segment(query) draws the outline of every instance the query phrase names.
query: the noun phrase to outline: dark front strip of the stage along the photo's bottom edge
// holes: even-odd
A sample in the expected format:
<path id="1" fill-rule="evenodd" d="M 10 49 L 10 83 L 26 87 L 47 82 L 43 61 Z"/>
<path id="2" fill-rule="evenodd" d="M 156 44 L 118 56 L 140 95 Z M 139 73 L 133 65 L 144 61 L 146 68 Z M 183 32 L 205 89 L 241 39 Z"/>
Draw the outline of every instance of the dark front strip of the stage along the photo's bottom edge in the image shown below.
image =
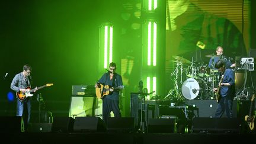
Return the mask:
<path id="1" fill-rule="evenodd" d="M 229 143 L 250 142 L 255 133 L 5 133 L 7 143 Z"/>

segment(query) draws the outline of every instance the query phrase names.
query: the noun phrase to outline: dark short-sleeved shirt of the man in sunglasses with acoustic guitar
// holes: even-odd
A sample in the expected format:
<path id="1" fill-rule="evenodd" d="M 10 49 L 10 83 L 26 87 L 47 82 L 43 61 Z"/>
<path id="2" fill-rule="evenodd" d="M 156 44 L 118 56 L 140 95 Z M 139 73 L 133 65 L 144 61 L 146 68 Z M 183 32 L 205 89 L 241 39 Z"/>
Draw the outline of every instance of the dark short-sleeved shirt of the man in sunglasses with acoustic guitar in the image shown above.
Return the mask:
<path id="1" fill-rule="evenodd" d="M 98 82 L 100 82 L 100 84 L 108 85 L 109 87 L 114 87 L 114 88 L 123 85 L 122 78 L 117 73 L 114 73 L 114 76 L 111 80 L 110 80 L 110 74 L 104 73 L 104 75 L 101 76 L 101 78 Z M 105 95 L 105 97 L 107 97 L 111 100 L 119 100 L 119 91 L 114 90 L 113 92 L 110 92 L 108 95 Z"/>

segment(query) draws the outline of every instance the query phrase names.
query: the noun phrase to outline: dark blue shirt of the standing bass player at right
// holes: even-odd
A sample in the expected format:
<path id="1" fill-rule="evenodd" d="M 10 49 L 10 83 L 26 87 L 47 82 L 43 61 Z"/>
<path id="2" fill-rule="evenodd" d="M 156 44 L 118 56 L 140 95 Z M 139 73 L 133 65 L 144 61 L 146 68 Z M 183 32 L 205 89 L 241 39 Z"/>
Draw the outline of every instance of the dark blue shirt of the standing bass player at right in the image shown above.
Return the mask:
<path id="1" fill-rule="evenodd" d="M 232 69 L 225 70 L 222 83 L 229 83 L 231 85 L 222 85 L 222 87 L 220 87 L 220 95 L 222 95 L 222 97 L 232 96 L 235 94 L 235 74 Z"/>

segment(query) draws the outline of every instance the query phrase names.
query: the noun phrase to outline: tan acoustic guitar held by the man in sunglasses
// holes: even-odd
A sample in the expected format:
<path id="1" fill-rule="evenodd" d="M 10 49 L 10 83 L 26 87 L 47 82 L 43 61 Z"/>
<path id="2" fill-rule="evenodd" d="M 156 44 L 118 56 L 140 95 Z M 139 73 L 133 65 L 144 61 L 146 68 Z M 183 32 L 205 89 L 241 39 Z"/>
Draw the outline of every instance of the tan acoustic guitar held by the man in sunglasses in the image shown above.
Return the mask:
<path id="1" fill-rule="evenodd" d="M 108 95 L 110 92 L 114 91 L 114 89 L 122 89 L 124 88 L 123 85 L 120 85 L 119 87 L 109 87 L 109 85 L 103 85 L 99 84 L 98 87 L 96 87 L 96 97 L 99 99 L 102 99 L 105 95 Z"/>

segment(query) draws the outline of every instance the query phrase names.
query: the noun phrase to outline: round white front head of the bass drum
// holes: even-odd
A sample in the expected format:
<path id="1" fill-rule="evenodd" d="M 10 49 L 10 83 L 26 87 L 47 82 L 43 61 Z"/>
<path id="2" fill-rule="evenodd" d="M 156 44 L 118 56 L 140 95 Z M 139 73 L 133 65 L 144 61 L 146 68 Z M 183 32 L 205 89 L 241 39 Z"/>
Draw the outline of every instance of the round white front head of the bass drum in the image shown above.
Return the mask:
<path id="1" fill-rule="evenodd" d="M 188 78 L 183 82 L 181 92 L 188 100 L 194 100 L 199 95 L 199 82 L 194 78 Z"/>

